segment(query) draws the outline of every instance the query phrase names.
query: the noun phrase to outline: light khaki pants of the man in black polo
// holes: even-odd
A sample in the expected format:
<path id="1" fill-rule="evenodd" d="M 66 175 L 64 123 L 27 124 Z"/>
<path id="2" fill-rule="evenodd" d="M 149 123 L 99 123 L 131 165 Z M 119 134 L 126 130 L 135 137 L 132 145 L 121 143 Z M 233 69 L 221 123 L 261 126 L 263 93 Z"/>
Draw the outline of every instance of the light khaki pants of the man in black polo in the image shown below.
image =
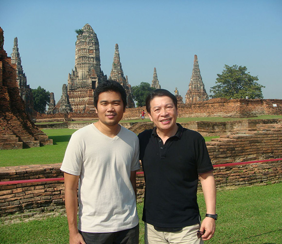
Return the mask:
<path id="1" fill-rule="evenodd" d="M 204 241 L 197 237 L 199 229 L 200 225 L 196 224 L 184 227 L 178 232 L 163 232 L 145 223 L 145 244 L 203 244 Z"/>

